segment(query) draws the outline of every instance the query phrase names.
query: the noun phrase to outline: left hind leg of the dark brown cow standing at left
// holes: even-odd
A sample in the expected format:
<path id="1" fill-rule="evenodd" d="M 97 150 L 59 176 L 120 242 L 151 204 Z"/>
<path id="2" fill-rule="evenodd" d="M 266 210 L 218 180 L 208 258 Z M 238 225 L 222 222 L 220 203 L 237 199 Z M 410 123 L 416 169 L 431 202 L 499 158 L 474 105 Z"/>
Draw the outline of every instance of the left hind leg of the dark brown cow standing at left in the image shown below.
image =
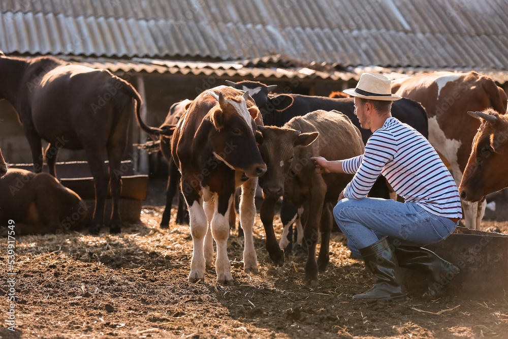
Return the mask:
<path id="1" fill-rule="evenodd" d="M 108 190 L 107 167 L 104 163 L 104 149 L 85 149 L 88 159 L 88 165 L 92 172 L 94 190 L 95 190 L 95 206 L 93 208 L 92 223 L 89 227 L 91 234 L 98 234 L 104 222 L 104 207 L 106 205 L 106 193 Z"/>

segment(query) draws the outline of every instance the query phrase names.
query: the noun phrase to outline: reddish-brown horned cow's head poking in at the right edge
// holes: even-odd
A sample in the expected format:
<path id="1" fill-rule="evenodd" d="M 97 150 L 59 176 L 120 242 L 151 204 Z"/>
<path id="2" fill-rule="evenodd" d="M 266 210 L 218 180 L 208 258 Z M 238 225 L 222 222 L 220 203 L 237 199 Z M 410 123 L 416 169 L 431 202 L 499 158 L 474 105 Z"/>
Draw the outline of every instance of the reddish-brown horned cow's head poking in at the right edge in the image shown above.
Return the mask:
<path id="1" fill-rule="evenodd" d="M 474 136 L 471 155 L 459 185 L 460 198 L 478 202 L 493 192 L 508 187 L 508 115 L 488 108 L 467 112 L 481 121 Z"/>

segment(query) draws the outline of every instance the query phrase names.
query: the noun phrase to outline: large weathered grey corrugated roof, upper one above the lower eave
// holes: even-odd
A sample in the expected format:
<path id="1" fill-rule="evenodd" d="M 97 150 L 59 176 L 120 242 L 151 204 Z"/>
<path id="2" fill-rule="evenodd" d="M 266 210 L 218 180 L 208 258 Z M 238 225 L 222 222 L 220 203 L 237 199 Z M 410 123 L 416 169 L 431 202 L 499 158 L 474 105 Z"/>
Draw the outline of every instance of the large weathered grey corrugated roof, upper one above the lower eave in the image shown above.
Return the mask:
<path id="1" fill-rule="evenodd" d="M 6 53 L 508 65 L 508 0 L 3 0 Z"/>

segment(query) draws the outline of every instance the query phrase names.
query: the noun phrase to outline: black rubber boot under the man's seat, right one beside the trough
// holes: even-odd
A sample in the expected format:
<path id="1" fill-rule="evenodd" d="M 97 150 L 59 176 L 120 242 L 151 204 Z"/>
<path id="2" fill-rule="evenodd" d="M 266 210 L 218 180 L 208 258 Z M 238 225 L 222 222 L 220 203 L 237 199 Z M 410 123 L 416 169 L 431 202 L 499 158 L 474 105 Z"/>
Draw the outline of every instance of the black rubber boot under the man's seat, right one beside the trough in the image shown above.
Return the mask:
<path id="1" fill-rule="evenodd" d="M 424 299 L 442 296 L 459 273 L 458 267 L 423 247 L 398 246 L 395 248 L 395 256 L 400 267 L 414 269 L 427 276 L 429 290 L 423 294 Z"/>

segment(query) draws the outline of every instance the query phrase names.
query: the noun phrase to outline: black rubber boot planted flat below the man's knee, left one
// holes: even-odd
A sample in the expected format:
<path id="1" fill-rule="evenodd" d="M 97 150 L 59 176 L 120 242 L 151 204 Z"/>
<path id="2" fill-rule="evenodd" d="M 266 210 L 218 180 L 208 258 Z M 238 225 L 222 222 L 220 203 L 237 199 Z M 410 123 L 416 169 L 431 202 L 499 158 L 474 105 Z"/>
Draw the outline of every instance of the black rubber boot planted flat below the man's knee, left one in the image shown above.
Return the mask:
<path id="1" fill-rule="evenodd" d="M 353 296 L 355 299 L 404 300 L 402 279 L 397 258 L 390 249 L 388 237 L 377 240 L 373 244 L 360 249 L 365 265 L 370 268 L 376 278 L 373 288 L 362 294 Z"/>

